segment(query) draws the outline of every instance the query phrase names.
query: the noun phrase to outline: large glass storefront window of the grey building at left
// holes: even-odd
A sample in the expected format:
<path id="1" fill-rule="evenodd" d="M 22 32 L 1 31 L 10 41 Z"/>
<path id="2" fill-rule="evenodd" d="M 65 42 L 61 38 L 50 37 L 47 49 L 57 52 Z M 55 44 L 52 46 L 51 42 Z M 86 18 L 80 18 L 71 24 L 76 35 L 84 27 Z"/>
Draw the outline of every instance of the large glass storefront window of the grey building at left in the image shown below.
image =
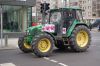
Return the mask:
<path id="1" fill-rule="evenodd" d="M 3 32 L 24 32 L 32 22 L 32 7 L 3 5 Z"/>

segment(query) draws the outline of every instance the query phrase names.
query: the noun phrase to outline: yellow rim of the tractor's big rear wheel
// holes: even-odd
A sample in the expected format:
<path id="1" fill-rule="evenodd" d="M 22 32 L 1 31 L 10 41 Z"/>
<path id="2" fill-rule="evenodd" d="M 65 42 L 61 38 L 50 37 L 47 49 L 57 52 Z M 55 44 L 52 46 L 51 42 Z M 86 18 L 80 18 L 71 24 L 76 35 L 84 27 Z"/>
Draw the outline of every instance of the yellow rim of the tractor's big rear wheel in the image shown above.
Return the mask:
<path id="1" fill-rule="evenodd" d="M 76 36 L 78 46 L 85 47 L 88 44 L 89 36 L 86 31 L 81 30 Z"/>

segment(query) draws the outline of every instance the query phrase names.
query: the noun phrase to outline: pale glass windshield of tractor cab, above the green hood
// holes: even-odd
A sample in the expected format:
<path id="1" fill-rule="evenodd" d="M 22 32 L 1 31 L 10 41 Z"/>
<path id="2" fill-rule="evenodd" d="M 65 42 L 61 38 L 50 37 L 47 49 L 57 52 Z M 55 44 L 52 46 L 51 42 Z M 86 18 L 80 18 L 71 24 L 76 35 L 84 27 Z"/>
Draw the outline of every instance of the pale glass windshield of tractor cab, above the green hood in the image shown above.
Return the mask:
<path id="1" fill-rule="evenodd" d="M 49 16 L 50 24 L 59 23 L 61 21 L 61 12 L 51 12 Z"/>

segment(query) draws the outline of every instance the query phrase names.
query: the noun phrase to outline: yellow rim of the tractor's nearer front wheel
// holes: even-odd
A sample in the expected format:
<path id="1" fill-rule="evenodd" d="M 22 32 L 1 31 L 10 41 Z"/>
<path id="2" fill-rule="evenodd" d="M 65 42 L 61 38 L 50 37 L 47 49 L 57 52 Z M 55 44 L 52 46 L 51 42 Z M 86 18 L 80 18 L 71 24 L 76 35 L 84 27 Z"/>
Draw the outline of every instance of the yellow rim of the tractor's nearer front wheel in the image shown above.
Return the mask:
<path id="1" fill-rule="evenodd" d="M 47 38 L 43 38 L 41 39 L 39 42 L 38 42 L 38 49 L 41 51 L 41 52 L 47 52 L 50 50 L 50 47 L 51 47 L 51 42 L 49 39 Z"/>

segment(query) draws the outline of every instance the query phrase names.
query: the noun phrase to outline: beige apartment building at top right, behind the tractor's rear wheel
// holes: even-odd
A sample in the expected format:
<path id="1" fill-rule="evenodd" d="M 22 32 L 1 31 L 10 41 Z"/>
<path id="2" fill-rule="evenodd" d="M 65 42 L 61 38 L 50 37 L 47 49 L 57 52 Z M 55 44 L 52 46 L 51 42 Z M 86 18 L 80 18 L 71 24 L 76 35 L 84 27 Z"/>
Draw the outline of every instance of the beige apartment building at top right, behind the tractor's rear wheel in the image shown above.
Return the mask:
<path id="1" fill-rule="evenodd" d="M 84 10 L 83 17 L 87 22 L 100 19 L 100 0 L 79 0 L 80 8 Z"/>

